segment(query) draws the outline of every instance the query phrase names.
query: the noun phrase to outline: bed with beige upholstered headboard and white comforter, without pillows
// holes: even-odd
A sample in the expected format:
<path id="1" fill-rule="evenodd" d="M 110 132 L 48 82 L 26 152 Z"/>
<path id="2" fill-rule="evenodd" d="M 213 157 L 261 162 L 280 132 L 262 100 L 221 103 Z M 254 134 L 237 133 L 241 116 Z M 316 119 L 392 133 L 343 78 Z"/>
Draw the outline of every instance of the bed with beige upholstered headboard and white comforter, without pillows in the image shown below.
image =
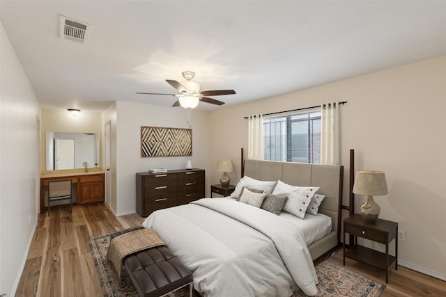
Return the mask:
<path id="1" fill-rule="evenodd" d="M 153 228 L 192 271 L 194 289 L 203 296 L 316 294 L 314 261 L 340 246 L 344 167 L 247 159 L 242 172 L 256 181 L 318 187 L 325 195 L 318 214 L 329 221 L 328 230 L 309 240 L 284 211 L 272 214 L 230 197 L 155 211 L 144 227 Z"/>

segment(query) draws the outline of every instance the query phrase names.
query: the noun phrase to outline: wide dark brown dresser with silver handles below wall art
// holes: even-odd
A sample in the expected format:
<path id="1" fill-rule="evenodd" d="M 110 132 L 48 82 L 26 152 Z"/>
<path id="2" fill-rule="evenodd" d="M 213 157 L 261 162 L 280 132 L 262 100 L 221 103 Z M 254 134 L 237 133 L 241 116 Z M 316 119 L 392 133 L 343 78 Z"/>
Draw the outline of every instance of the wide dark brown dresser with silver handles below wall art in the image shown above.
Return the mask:
<path id="1" fill-rule="evenodd" d="M 146 217 L 157 209 L 187 204 L 204 197 L 203 169 L 137 173 L 137 213 Z"/>

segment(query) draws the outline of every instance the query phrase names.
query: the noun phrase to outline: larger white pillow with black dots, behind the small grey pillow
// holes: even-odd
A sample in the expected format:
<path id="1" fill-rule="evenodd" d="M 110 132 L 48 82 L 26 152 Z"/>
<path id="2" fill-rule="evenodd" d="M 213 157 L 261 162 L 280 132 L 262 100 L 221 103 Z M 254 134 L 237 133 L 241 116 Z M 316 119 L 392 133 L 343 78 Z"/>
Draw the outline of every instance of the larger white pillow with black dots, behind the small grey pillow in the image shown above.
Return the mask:
<path id="1" fill-rule="evenodd" d="M 318 186 L 291 186 L 279 180 L 272 191 L 272 195 L 287 195 L 288 199 L 282 211 L 304 218 L 309 202 L 318 191 Z"/>

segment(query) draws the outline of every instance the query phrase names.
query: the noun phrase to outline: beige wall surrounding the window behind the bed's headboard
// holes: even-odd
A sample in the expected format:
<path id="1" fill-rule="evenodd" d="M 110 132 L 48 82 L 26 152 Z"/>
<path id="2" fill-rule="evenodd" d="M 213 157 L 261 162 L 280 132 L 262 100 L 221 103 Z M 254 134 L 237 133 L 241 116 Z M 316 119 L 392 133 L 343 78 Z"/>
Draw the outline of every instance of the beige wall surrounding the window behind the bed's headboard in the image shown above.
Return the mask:
<path id="1" fill-rule="evenodd" d="M 383 170 L 389 194 L 377 196 L 380 218 L 406 231 L 399 241 L 401 264 L 446 280 L 446 56 L 316 88 L 218 109 L 210 115 L 210 165 L 225 156 L 236 163 L 247 147 L 246 115 L 347 101 L 341 106 L 341 163 L 355 149 L 355 170 Z M 213 182 L 219 172 L 208 172 Z M 364 197 L 356 198 L 357 209 Z M 365 243 L 378 250 L 383 246 Z M 391 247 L 393 250 L 393 246 Z"/>

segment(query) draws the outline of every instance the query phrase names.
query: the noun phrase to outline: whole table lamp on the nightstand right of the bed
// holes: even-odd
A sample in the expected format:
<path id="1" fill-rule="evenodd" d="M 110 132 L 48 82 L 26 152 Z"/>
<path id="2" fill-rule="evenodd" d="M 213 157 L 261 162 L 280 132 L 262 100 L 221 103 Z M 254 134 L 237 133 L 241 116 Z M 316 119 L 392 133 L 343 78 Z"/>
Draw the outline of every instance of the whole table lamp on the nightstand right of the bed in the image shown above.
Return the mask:
<path id="1" fill-rule="evenodd" d="M 374 195 L 386 195 L 387 184 L 382 171 L 357 171 L 353 193 L 367 195 L 367 200 L 361 205 L 361 215 L 367 223 L 375 223 L 380 213 L 380 207 L 374 201 Z"/>

